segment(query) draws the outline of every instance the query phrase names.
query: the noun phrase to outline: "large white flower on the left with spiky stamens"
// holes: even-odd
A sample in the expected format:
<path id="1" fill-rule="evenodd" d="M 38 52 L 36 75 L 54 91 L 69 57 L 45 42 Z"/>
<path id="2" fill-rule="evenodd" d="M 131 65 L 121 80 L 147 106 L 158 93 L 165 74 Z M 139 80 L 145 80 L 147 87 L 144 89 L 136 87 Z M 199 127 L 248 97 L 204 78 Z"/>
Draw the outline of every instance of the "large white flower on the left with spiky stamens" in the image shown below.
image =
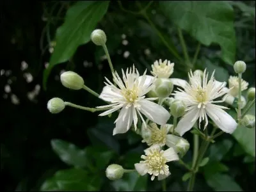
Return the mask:
<path id="1" fill-rule="evenodd" d="M 146 71 L 143 76 L 140 76 L 137 69 L 135 72 L 134 66 L 133 69 L 130 68 L 130 71 L 127 68 L 126 74 L 124 73 L 124 70 L 122 70 L 122 74 L 124 83 L 118 76 L 117 72 L 113 74 L 113 81 L 117 86 L 106 78 L 108 83 L 105 82 L 106 86 L 103 88 L 99 97 L 111 102 L 112 104 L 97 107 L 112 107 L 112 109 L 109 109 L 104 113 L 100 113 L 99 116 L 108 115 L 118 109 L 121 109 L 118 118 L 115 120 L 116 127 L 113 130 L 113 135 L 127 132 L 132 125 L 132 121 L 136 129 L 138 115 L 140 116 L 143 124 L 146 125 L 141 113 L 152 120 L 152 122 L 156 122 L 156 124 L 166 124 L 167 120 L 170 118 L 170 113 L 168 113 L 168 111 L 162 106 L 150 101 L 156 100 L 157 98 L 145 99 L 145 94 L 151 90 L 152 83 L 155 79 L 147 79 L 147 76 L 145 75 Z"/>

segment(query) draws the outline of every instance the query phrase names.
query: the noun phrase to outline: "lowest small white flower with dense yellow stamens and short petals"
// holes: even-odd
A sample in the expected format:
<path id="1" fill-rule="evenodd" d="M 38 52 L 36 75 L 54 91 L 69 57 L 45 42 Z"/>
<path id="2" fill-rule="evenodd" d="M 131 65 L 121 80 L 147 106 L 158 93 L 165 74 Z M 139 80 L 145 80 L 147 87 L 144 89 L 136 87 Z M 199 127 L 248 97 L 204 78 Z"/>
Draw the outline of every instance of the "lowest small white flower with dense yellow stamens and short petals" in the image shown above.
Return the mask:
<path id="1" fill-rule="evenodd" d="M 144 152 L 146 156 L 141 156 L 141 159 L 145 161 L 140 161 L 140 163 L 136 163 L 134 166 L 140 175 L 147 173 L 152 175 L 151 180 L 154 180 L 156 176 L 158 176 L 158 180 L 168 177 L 171 173 L 166 163 L 179 160 L 179 156 L 173 148 L 161 150 L 159 145 L 153 145 L 144 150 Z"/>

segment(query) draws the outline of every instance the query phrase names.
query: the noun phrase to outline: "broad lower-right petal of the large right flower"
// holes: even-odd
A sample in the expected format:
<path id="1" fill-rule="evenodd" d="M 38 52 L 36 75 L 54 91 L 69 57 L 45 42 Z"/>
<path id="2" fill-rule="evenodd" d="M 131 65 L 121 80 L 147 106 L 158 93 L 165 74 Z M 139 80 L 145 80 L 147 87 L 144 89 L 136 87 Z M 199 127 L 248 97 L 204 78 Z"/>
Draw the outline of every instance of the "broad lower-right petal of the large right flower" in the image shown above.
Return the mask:
<path id="1" fill-rule="evenodd" d="M 230 134 L 235 131 L 237 127 L 236 120 L 228 115 L 227 112 L 223 111 L 223 109 L 213 104 L 208 104 L 205 109 L 207 115 L 222 131 Z"/>

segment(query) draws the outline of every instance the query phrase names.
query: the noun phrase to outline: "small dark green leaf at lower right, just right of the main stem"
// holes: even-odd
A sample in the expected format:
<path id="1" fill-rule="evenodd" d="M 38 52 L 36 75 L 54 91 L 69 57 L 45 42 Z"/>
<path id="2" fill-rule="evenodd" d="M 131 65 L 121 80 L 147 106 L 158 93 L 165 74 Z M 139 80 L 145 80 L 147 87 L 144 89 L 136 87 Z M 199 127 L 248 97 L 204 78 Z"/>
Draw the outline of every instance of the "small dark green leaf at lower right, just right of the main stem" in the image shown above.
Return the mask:
<path id="1" fill-rule="evenodd" d="M 209 148 L 209 159 L 211 161 L 221 161 L 232 145 L 233 143 L 230 140 L 222 140 L 214 143 Z"/>

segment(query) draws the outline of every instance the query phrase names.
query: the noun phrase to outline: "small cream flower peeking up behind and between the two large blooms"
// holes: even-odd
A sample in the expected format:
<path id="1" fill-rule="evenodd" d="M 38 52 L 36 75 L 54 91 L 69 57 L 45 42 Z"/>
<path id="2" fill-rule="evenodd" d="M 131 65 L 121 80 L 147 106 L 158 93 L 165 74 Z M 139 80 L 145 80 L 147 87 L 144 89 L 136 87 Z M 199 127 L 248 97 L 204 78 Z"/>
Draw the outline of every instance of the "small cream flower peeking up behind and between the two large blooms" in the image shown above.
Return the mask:
<path id="1" fill-rule="evenodd" d="M 164 60 L 162 62 L 162 60 L 159 60 L 159 61 L 156 60 L 154 62 L 154 65 L 151 65 L 151 66 L 152 66 L 151 74 L 158 78 L 168 79 L 173 74 L 174 63 L 170 63 L 170 61 Z M 153 78 L 153 77 L 148 76 L 148 78 Z M 170 80 L 176 86 L 184 87 L 186 85 L 186 81 L 183 79 L 170 78 Z"/>

